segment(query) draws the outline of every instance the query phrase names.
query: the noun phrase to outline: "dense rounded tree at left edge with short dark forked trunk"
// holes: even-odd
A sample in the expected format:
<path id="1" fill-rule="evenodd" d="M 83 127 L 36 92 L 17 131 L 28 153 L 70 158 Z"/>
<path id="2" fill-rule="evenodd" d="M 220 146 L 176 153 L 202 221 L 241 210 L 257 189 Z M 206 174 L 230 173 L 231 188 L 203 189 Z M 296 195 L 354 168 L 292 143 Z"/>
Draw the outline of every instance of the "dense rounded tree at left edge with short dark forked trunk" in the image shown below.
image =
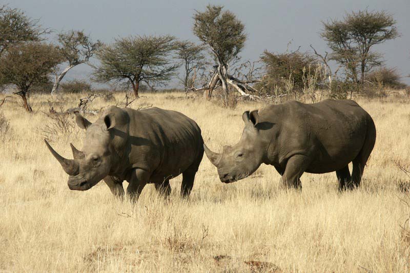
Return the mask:
<path id="1" fill-rule="evenodd" d="M 23 43 L 8 48 L 0 57 L 0 79 L 6 85 L 15 85 L 24 108 L 32 112 L 27 100 L 30 88 L 46 83 L 55 66 L 61 62 L 59 50 L 40 42 Z"/>

